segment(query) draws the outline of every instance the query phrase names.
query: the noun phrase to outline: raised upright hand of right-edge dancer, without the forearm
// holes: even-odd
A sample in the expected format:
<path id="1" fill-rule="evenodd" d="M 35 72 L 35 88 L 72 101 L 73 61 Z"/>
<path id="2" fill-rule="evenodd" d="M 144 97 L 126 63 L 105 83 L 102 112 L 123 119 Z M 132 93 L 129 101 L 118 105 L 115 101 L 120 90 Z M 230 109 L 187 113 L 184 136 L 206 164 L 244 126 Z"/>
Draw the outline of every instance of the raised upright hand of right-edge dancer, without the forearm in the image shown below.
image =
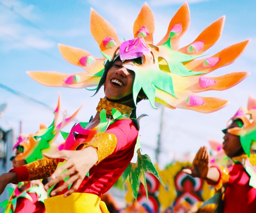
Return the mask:
<path id="1" fill-rule="evenodd" d="M 209 152 L 205 146 L 201 147 L 193 160 L 192 170 L 183 169 L 182 172 L 191 175 L 192 177 L 199 177 L 206 179 L 209 170 Z"/>

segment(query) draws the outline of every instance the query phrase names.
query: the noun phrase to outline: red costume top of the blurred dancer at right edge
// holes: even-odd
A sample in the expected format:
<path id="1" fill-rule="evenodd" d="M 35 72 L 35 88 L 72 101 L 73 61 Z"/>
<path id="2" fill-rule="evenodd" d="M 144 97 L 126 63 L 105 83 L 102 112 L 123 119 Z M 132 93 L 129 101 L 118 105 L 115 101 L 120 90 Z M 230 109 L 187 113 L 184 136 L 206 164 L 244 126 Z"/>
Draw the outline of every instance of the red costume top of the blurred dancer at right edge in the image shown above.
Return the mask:
<path id="1" fill-rule="evenodd" d="M 218 166 L 214 166 L 220 173 Z M 256 189 L 249 186 L 250 176 L 245 171 L 243 165 L 236 164 L 228 168 L 230 180 L 225 184 L 224 213 L 244 213 L 256 212 Z"/>

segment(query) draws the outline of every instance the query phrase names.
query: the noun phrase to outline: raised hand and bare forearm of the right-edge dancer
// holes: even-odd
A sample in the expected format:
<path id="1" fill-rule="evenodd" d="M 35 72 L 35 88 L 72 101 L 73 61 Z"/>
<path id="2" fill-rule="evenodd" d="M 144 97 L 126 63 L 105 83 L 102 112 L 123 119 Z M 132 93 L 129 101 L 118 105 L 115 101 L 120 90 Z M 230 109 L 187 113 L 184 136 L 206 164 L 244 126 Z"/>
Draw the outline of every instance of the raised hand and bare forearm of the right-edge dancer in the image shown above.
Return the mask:
<path id="1" fill-rule="evenodd" d="M 209 165 L 209 152 L 205 146 L 201 147 L 192 163 L 192 170 L 184 169 L 182 172 L 206 180 L 210 184 L 218 183 L 220 173 L 216 167 Z"/>

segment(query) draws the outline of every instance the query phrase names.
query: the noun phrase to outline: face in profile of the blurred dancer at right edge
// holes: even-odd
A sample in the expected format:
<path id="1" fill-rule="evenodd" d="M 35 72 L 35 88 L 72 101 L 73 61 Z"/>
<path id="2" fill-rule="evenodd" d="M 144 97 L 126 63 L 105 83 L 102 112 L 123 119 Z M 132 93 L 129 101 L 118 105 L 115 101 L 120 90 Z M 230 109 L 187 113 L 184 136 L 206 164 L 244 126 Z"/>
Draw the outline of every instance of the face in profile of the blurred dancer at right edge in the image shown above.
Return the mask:
<path id="1" fill-rule="evenodd" d="M 227 129 L 231 129 L 234 127 L 239 127 L 238 124 L 233 121 Z M 233 135 L 229 133 L 228 131 L 225 133 L 225 136 L 223 137 L 223 150 L 227 156 L 230 158 L 237 156 L 237 153 L 239 150 L 241 150 L 242 145 L 240 142 L 240 136 Z"/>

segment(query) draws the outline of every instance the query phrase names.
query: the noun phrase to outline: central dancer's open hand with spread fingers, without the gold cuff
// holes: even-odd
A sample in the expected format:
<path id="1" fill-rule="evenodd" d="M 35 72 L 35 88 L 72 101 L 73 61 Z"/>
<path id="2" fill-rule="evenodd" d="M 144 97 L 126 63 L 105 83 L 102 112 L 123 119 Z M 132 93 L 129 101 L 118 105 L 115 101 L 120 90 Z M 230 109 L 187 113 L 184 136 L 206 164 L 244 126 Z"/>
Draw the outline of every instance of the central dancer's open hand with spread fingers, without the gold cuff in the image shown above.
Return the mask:
<path id="1" fill-rule="evenodd" d="M 65 188 L 68 188 L 70 184 L 72 184 L 72 186 L 67 192 L 65 192 L 64 196 L 68 196 L 75 192 L 82 183 L 86 174 L 89 172 L 90 168 L 98 161 L 97 150 L 94 147 L 86 147 L 85 149 L 78 151 L 62 150 L 56 154 L 44 154 L 44 156 L 47 158 L 60 158 L 67 160 L 63 165 L 57 167 L 56 171 L 51 176 L 52 180 L 45 185 L 45 189 L 47 190 L 69 177 L 65 183 L 50 193 L 51 196 L 57 195 Z"/>

